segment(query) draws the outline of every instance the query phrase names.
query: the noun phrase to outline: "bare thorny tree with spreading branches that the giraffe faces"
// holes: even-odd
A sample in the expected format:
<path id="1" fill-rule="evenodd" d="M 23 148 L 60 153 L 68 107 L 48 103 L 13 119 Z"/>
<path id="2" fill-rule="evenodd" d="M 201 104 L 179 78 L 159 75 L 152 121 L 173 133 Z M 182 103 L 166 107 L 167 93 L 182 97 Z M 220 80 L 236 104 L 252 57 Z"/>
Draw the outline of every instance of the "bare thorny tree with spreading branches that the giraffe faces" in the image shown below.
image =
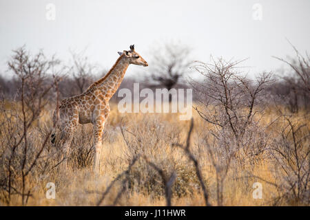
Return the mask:
<path id="1" fill-rule="evenodd" d="M 196 62 L 192 66 L 205 78 L 203 83 L 190 82 L 203 108 L 194 109 L 206 122 L 230 131 L 240 146 L 248 126 L 255 122 L 254 115 L 262 110 L 258 107 L 265 98 L 262 95 L 266 85 L 271 83 L 271 74 L 264 73 L 254 82 L 238 71 L 242 61 L 227 62 L 222 58 L 213 61 L 211 64 Z"/>

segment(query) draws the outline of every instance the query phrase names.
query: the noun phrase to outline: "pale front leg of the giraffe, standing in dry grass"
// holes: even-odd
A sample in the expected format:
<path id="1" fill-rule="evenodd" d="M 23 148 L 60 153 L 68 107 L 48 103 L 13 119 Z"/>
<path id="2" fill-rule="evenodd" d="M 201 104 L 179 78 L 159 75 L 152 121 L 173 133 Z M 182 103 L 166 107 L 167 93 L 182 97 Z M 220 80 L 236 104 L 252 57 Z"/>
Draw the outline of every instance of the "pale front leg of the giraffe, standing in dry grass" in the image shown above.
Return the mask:
<path id="1" fill-rule="evenodd" d="M 99 171 L 99 161 L 102 148 L 102 135 L 105 120 L 100 118 L 94 123 L 94 170 Z"/>

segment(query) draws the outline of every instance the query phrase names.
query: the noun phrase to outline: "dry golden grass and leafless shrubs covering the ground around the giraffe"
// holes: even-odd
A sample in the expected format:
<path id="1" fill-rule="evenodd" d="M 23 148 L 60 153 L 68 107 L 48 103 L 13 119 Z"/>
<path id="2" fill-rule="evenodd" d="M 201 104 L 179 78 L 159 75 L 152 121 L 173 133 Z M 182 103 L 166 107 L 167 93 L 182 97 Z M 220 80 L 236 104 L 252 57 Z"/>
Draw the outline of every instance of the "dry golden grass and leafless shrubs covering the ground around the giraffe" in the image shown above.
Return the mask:
<path id="1" fill-rule="evenodd" d="M 200 97 L 192 121 L 119 113 L 111 103 L 95 174 L 90 124 L 74 135 L 65 170 L 61 146 L 50 143 L 58 64 L 22 50 L 10 62 L 22 87 L 16 100 L 1 100 L 0 205 L 309 206 L 309 111 L 266 104 L 270 74 L 251 81 L 238 63 L 196 63 L 205 81 L 191 81 Z M 49 71 L 54 80 L 43 83 Z M 45 197 L 48 182 L 56 199 Z M 255 182 L 262 199 L 252 197 Z"/>

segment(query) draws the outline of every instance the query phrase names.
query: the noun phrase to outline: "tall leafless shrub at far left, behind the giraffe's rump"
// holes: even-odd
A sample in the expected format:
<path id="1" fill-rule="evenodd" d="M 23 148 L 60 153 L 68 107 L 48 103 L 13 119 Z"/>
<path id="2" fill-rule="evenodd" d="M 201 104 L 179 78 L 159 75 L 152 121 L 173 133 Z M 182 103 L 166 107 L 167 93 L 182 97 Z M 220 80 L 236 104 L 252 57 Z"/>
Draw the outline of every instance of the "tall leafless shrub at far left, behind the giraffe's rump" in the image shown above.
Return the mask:
<path id="1" fill-rule="evenodd" d="M 28 178 L 38 167 L 43 151 L 50 140 L 50 131 L 38 142 L 32 140 L 34 126 L 40 123 L 43 108 L 48 104 L 47 96 L 59 82 L 54 75 L 51 84 L 45 83 L 47 74 L 55 74 L 59 61 L 45 58 L 43 52 L 31 56 L 24 47 L 14 50 L 8 67 L 19 79 L 16 102 L 1 100 L 0 126 L 0 191 L 1 200 L 10 204 L 12 195 L 20 195 L 25 205 L 31 196 Z"/>

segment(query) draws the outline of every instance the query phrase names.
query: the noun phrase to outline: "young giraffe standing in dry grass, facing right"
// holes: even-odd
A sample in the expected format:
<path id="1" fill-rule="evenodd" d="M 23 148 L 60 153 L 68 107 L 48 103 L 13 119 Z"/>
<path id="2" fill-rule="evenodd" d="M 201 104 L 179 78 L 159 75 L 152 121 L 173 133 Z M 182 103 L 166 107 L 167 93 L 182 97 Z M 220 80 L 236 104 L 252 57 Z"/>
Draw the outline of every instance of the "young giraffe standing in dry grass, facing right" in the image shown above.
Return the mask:
<path id="1" fill-rule="evenodd" d="M 92 123 L 94 127 L 94 164 L 93 169 L 99 170 L 99 158 L 102 148 L 102 135 L 105 122 L 110 113 L 109 100 L 112 98 L 125 76 L 130 64 L 143 65 L 147 62 L 130 45 L 130 51 L 118 52 L 120 55 L 103 78 L 94 82 L 83 94 L 72 96 L 61 101 L 58 111 L 54 111 L 53 120 L 60 131 L 60 140 L 63 144 L 63 157 L 68 158 L 68 151 L 72 137 L 78 124 Z M 54 143 L 56 133 L 52 135 Z M 65 166 L 67 161 L 65 161 Z"/>

